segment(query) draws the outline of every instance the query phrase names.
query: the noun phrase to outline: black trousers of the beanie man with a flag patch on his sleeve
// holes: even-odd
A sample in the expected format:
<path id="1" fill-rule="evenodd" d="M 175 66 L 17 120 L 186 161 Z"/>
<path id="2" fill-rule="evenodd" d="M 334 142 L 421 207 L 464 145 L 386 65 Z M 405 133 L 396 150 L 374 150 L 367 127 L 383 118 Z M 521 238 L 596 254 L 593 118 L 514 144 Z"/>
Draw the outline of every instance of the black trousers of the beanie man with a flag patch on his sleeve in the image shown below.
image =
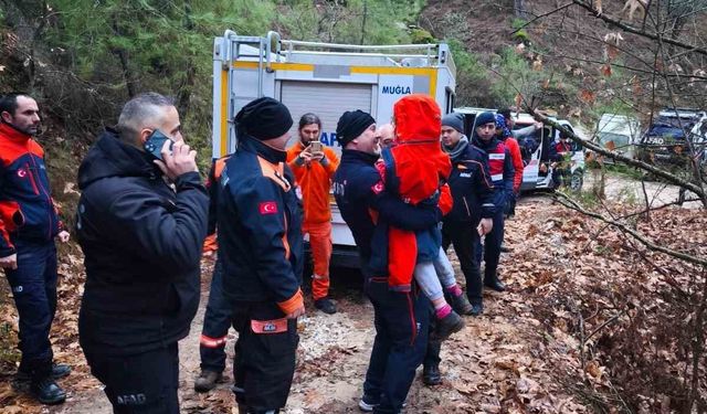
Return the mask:
<path id="1" fill-rule="evenodd" d="M 297 320 L 288 319 L 284 332 L 255 333 L 251 328 L 253 320 L 284 317 L 274 302 L 234 302 L 233 328 L 239 331 L 239 339 L 233 362 L 233 392 L 239 408 L 249 414 L 277 412 L 287 403 L 299 342 Z"/>

